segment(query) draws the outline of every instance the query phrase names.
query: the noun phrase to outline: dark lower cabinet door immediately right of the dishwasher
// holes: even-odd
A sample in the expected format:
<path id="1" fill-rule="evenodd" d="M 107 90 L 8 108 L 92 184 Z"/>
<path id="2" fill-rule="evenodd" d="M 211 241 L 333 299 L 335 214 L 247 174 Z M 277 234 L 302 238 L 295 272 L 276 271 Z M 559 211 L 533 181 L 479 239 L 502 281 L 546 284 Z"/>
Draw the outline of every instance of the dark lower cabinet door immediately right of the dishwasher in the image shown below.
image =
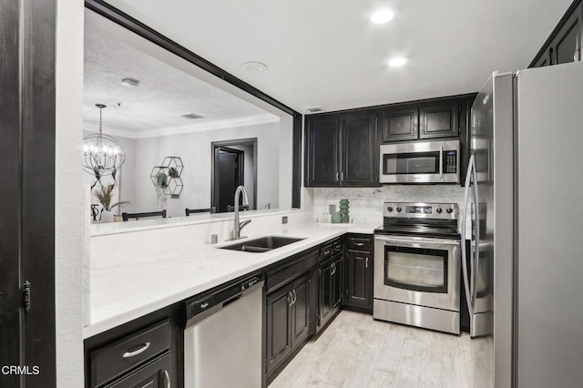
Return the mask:
<path id="1" fill-rule="evenodd" d="M 267 295 L 267 370 L 277 365 L 292 349 L 292 287 Z"/>

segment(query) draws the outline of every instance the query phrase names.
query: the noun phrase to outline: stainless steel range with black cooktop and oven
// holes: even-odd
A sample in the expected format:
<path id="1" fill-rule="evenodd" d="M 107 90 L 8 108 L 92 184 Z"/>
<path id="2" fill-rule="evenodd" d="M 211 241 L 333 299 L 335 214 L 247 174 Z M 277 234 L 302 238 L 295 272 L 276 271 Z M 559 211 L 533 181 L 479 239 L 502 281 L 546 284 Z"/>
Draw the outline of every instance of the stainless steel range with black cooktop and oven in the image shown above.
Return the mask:
<path id="1" fill-rule="evenodd" d="M 384 202 L 374 230 L 374 319 L 459 334 L 458 213 L 455 203 Z"/>

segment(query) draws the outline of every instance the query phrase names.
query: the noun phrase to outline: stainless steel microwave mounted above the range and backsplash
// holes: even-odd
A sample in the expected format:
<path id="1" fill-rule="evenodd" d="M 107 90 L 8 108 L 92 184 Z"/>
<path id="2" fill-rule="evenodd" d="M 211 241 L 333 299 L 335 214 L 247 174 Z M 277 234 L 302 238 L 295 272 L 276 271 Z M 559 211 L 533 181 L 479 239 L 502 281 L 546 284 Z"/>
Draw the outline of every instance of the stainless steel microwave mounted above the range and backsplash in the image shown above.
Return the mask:
<path id="1" fill-rule="evenodd" d="M 381 146 L 381 183 L 459 183 L 459 140 Z"/>

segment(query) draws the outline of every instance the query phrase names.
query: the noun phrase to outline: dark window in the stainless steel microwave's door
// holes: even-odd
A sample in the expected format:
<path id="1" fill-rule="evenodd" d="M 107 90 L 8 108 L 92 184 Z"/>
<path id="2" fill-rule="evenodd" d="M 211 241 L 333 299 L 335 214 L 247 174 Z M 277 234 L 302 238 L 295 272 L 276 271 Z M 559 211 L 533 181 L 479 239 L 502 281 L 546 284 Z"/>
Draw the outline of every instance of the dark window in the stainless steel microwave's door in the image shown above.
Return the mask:
<path id="1" fill-rule="evenodd" d="M 439 151 L 383 155 L 383 174 L 438 174 Z"/>

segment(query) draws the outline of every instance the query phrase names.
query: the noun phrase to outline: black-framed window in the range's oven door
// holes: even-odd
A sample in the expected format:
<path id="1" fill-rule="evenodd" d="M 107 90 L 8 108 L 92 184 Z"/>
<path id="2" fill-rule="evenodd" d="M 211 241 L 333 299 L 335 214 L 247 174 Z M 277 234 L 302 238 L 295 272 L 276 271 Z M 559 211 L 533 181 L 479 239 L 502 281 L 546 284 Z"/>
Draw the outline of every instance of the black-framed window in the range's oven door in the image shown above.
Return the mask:
<path id="1" fill-rule="evenodd" d="M 447 250 L 384 246 L 384 284 L 423 292 L 447 293 Z"/>

